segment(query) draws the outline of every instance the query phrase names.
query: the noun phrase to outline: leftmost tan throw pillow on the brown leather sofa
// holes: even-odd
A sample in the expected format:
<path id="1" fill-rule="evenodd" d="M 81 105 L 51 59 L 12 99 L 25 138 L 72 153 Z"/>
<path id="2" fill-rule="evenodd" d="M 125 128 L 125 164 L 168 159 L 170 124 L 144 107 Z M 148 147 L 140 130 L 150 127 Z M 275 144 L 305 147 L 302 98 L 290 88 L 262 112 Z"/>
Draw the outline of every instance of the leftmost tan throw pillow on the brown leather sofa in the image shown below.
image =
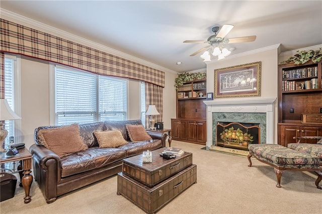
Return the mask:
<path id="1" fill-rule="evenodd" d="M 88 149 L 79 134 L 79 126 L 72 124 L 60 128 L 43 129 L 38 136 L 47 149 L 56 153 L 59 157 Z"/>

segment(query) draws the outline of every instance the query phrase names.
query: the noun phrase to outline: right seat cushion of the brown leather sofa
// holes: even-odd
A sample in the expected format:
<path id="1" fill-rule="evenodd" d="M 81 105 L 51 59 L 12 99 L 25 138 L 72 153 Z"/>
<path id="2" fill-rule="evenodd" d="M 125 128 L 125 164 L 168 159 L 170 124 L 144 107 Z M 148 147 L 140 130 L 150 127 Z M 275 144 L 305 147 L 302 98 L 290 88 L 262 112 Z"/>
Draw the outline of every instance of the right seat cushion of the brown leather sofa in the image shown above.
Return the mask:
<path id="1" fill-rule="evenodd" d="M 129 142 L 123 146 L 117 148 L 126 150 L 126 156 L 131 157 L 133 155 L 142 154 L 144 151 L 155 150 L 162 147 L 162 140 L 147 140 L 140 142 Z"/>

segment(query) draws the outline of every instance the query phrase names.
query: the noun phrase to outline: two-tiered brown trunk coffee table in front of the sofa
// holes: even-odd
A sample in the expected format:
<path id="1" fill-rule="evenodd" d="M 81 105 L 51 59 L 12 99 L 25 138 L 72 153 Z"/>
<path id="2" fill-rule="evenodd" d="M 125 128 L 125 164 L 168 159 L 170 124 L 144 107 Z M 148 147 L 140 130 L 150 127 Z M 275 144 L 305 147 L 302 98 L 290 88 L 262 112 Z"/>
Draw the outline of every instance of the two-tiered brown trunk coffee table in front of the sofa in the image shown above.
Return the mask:
<path id="1" fill-rule="evenodd" d="M 117 175 L 117 194 L 123 195 L 147 213 L 154 213 L 197 182 L 197 166 L 192 153 L 166 160 L 164 148 L 152 151 L 152 163 L 142 163 L 142 155 L 123 160 Z"/>

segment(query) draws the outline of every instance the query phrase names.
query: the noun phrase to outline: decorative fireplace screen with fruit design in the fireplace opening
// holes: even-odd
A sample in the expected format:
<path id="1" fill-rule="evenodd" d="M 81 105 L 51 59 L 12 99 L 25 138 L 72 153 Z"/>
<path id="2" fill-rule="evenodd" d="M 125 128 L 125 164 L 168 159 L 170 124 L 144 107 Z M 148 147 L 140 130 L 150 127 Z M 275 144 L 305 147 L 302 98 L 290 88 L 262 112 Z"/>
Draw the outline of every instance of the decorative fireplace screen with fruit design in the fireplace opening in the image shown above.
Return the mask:
<path id="1" fill-rule="evenodd" d="M 248 150 L 249 144 L 260 143 L 259 124 L 218 122 L 217 146 Z"/>

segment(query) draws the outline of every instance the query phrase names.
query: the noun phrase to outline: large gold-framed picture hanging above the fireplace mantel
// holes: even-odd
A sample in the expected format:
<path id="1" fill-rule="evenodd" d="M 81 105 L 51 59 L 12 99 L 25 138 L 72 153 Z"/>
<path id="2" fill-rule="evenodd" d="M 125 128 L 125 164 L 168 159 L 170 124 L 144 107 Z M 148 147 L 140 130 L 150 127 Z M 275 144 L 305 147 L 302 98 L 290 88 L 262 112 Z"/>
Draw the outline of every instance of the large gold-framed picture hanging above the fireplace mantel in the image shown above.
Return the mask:
<path id="1" fill-rule="evenodd" d="M 216 69 L 215 97 L 260 96 L 261 66 L 262 62 L 253 62 Z"/>

